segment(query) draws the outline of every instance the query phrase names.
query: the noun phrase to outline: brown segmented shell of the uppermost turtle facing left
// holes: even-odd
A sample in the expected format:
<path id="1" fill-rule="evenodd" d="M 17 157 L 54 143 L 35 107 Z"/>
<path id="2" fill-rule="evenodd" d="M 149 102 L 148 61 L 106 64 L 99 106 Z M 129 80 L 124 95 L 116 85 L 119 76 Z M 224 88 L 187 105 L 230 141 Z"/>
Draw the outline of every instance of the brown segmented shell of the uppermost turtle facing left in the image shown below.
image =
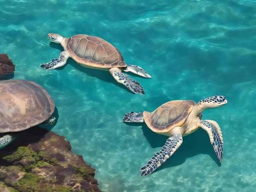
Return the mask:
<path id="1" fill-rule="evenodd" d="M 66 49 L 83 67 L 110 69 L 127 66 L 118 49 L 99 37 L 75 35 L 67 39 Z"/>

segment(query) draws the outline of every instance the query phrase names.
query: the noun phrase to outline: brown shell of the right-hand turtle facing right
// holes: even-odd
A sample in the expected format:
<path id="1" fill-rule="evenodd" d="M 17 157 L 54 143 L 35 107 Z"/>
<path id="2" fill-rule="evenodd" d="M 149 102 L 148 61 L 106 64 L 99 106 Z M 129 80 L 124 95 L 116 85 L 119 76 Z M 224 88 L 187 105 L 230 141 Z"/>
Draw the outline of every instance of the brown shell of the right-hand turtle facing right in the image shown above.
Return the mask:
<path id="1" fill-rule="evenodd" d="M 143 112 L 143 119 L 153 132 L 166 133 L 185 123 L 193 105 L 195 105 L 193 100 L 169 101 L 151 113 Z"/>

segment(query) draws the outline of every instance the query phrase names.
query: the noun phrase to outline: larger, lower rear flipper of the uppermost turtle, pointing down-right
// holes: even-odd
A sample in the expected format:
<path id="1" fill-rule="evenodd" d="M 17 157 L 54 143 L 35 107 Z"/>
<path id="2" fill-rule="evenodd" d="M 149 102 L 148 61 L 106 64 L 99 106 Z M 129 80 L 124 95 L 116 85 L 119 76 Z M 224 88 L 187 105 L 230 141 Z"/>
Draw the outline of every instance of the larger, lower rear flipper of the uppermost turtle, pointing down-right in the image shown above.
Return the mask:
<path id="1" fill-rule="evenodd" d="M 132 92 L 145 95 L 144 89 L 140 83 L 130 78 L 127 74 L 121 73 L 121 69 L 114 67 L 109 69 L 109 72 L 118 83 L 124 84 Z"/>

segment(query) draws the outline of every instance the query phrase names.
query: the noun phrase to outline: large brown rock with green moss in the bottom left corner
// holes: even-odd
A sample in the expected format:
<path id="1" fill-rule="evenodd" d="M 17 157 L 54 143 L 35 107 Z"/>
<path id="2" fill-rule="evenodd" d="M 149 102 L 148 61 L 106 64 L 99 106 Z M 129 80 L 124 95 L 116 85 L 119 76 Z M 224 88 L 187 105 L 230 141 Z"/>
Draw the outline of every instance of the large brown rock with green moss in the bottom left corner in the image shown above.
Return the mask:
<path id="1" fill-rule="evenodd" d="M 20 132 L 0 150 L 0 191 L 101 191 L 94 169 L 65 137 L 40 127 Z"/>

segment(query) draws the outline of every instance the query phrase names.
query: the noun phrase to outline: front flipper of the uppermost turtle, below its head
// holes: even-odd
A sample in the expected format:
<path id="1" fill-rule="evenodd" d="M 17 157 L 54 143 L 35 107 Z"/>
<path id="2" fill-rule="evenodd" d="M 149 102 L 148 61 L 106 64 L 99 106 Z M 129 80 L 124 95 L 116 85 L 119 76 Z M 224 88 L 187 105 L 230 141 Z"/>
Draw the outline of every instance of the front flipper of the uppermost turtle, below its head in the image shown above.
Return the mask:
<path id="1" fill-rule="evenodd" d="M 65 65 L 68 58 L 70 58 L 70 54 L 67 51 L 62 51 L 59 58 L 52 59 L 49 63 L 40 65 L 40 67 L 47 70 L 56 69 Z"/>

